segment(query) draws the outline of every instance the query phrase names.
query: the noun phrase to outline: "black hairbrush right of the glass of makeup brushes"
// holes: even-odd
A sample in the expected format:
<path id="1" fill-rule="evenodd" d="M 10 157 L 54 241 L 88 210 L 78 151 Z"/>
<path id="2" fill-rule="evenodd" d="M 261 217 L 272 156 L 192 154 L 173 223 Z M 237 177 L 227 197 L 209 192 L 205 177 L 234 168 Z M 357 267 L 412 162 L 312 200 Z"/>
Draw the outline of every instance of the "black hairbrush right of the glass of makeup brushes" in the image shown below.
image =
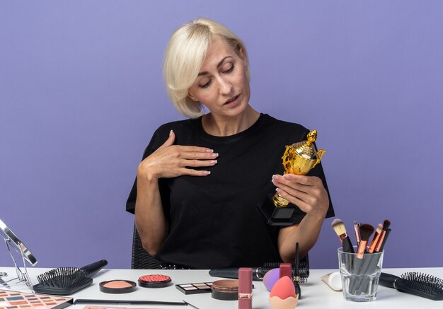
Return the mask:
<path id="1" fill-rule="evenodd" d="M 432 301 L 443 300 L 443 279 L 430 274 L 407 272 L 399 277 L 382 272 L 379 284 L 415 296 L 429 298 Z"/>

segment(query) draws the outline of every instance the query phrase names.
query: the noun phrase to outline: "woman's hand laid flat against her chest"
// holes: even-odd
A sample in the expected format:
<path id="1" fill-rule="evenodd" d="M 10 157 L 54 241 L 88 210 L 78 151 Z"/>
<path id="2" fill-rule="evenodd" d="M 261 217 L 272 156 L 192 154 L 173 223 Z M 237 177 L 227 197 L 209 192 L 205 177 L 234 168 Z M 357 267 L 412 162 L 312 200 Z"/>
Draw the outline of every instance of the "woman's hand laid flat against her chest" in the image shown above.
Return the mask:
<path id="1" fill-rule="evenodd" d="M 176 134 L 171 130 L 168 139 L 156 151 L 146 157 L 137 170 L 137 177 L 147 180 L 171 178 L 182 175 L 206 176 L 208 170 L 195 170 L 217 164 L 218 153 L 210 148 L 174 145 Z M 145 178 L 145 179 L 146 179 Z"/>

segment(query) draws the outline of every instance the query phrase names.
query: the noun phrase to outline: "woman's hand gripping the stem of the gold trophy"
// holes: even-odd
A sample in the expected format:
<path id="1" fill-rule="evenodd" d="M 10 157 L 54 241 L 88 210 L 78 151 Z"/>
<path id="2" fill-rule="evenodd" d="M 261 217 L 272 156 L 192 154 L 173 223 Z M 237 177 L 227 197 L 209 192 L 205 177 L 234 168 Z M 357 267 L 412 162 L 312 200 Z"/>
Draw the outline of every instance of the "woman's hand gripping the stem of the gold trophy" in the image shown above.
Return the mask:
<path id="1" fill-rule="evenodd" d="M 272 183 L 281 197 L 295 204 L 306 214 L 325 218 L 329 197 L 321 179 L 306 175 L 274 175 Z"/>

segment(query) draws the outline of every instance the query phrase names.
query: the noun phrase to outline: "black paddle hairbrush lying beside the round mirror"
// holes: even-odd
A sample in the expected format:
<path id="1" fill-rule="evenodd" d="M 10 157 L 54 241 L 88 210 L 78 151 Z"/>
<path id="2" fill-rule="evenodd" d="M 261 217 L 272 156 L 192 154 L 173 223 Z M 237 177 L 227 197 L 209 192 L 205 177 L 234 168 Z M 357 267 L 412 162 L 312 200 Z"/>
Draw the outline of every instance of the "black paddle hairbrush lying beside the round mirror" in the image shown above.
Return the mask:
<path id="1" fill-rule="evenodd" d="M 34 291 L 43 294 L 69 295 L 92 284 L 92 278 L 100 269 L 108 264 L 100 260 L 81 268 L 59 267 L 37 276 L 38 284 Z"/>

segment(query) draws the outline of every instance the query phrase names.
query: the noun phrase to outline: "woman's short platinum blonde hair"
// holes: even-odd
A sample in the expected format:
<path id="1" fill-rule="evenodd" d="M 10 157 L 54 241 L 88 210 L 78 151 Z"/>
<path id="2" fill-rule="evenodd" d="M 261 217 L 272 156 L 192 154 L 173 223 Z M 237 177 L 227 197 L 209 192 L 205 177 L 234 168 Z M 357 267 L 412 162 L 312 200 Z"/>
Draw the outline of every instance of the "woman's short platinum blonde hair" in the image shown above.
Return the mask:
<path id="1" fill-rule="evenodd" d="M 185 23 L 169 40 L 163 61 L 163 78 L 168 97 L 177 110 L 189 118 L 205 113 L 202 103 L 189 98 L 188 90 L 198 76 L 214 35 L 223 37 L 239 56 L 245 57 L 246 74 L 248 79 L 251 78 L 246 47 L 231 30 L 207 18 Z"/>

